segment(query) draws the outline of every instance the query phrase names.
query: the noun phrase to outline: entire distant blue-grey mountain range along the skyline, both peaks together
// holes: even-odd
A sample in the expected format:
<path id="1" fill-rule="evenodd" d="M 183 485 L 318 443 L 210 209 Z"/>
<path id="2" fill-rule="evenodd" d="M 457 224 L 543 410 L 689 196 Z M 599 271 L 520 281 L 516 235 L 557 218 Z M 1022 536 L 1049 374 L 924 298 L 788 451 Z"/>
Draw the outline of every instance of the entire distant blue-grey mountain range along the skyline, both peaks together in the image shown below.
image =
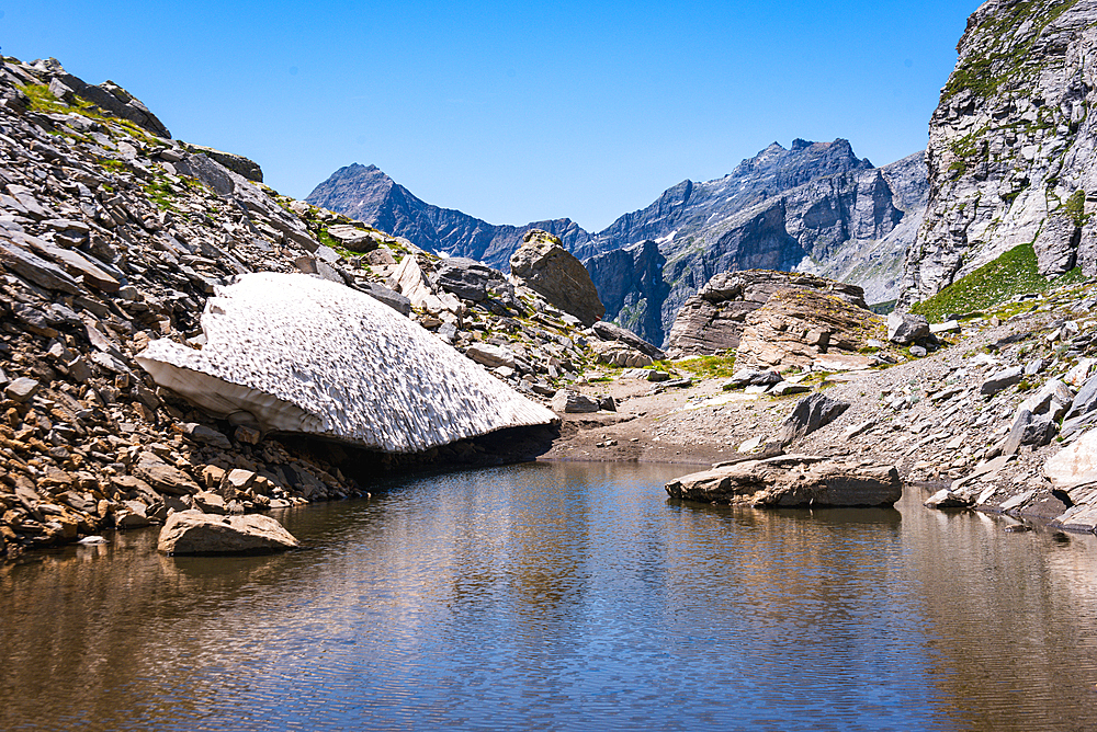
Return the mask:
<path id="1" fill-rule="evenodd" d="M 921 152 L 875 168 L 847 140 L 798 139 L 724 178 L 682 181 L 598 233 L 567 218 L 491 225 L 420 201 L 374 165 L 340 168 L 307 201 L 504 271 L 522 235 L 544 229 L 584 260 L 608 320 L 663 343 L 686 298 L 719 272 L 812 272 L 864 287 L 870 302 L 895 299 L 927 190 Z"/>

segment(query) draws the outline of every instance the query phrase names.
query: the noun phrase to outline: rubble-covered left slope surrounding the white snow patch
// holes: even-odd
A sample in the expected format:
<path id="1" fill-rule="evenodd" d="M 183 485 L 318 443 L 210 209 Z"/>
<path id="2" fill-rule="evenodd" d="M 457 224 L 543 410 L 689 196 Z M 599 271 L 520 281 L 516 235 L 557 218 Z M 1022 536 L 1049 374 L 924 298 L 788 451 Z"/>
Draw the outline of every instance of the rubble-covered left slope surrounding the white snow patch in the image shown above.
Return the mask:
<path id="1" fill-rule="evenodd" d="M 4 59 L 0 552 L 162 523 L 183 510 L 233 514 L 362 494 L 378 470 L 409 462 L 352 445 L 267 434 L 284 425 L 236 419 L 248 412 L 238 401 L 226 409 L 223 399 L 206 404 L 223 418 L 215 419 L 181 399 L 178 391 L 185 389 L 166 389 L 146 373 L 142 358 L 148 365 L 160 346 L 197 357 L 213 339 L 223 350 L 216 359 L 228 368 L 218 381 L 235 382 L 252 403 L 269 405 L 269 396 L 231 374 L 247 365 L 249 353 L 258 354 L 255 334 L 230 329 L 236 335 L 226 342 L 225 329 L 203 329 L 208 318 L 224 319 L 236 307 L 218 297 L 256 273 L 310 276 L 375 298 L 387 307 L 373 307 L 371 317 L 404 321 L 453 357 L 463 353 L 472 359 L 464 362 L 468 368 L 514 399 L 520 392 L 547 402 L 599 359 L 652 362 L 614 333 L 580 332 L 587 313 L 566 311 L 570 290 L 561 294 L 567 301 L 557 308 L 522 279 L 467 260 L 440 260 L 361 221 L 281 196 L 260 180 L 252 161 L 170 138 L 117 84 L 87 84 L 53 59 Z M 561 279 L 553 267 L 581 270 L 574 258 L 563 261 L 558 243 L 527 255 L 531 281 Z M 593 291 L 589 278 L 586 285 Z M 307 339 L 316 323 L 297 314 L 291 320 L 307 347 L 338 351 L 324 339 Z M 374 335 L 383 331 L 371 327 Z M 299 340 L 301 333 L 291 335 Z M 156 344 L 159 351 L 150 352 Z M 397 355 L 407 358 L 404 351 Z M 302 374 L 320 368 L 298 366 Z M 383 359 L 338 365 L 363 378 L 388 367 Z M 193 380 L 200 370 L 181 373 Z M 442 387 L 455 402 L 470 398 L 453 384 Z M 237 390 L 234 399 L 239 396 Z M 427 410 L 428 421 L 452 407 Z M 336 405 L 336 412 L 349 408 Z M 543 449 L 538 446 L 548 438 L 551 433 L 513 430 L 457 442 L 451 435 L 410 461 L 497 461 Z"/>

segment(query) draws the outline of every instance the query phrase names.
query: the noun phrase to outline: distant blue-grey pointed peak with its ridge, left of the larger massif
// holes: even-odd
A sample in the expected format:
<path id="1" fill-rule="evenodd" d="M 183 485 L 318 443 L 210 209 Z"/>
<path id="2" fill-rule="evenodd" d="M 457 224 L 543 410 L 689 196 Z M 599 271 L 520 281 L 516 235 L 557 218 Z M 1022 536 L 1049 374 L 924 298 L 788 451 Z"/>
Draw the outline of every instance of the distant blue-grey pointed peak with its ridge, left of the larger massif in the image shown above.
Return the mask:
<path id="1" fill-rule="evenodd" d="M 590 238 L 566 218 L 525 226 L 496 226 L 459 210 L 439 208 L 414 196 L 375 165 L 340 168 L 305 199 L 383 231 L 404 237 L 432 252 L 478 260 L 506 270 L 527 231 L 541 229 L 574 250 Z"/>

